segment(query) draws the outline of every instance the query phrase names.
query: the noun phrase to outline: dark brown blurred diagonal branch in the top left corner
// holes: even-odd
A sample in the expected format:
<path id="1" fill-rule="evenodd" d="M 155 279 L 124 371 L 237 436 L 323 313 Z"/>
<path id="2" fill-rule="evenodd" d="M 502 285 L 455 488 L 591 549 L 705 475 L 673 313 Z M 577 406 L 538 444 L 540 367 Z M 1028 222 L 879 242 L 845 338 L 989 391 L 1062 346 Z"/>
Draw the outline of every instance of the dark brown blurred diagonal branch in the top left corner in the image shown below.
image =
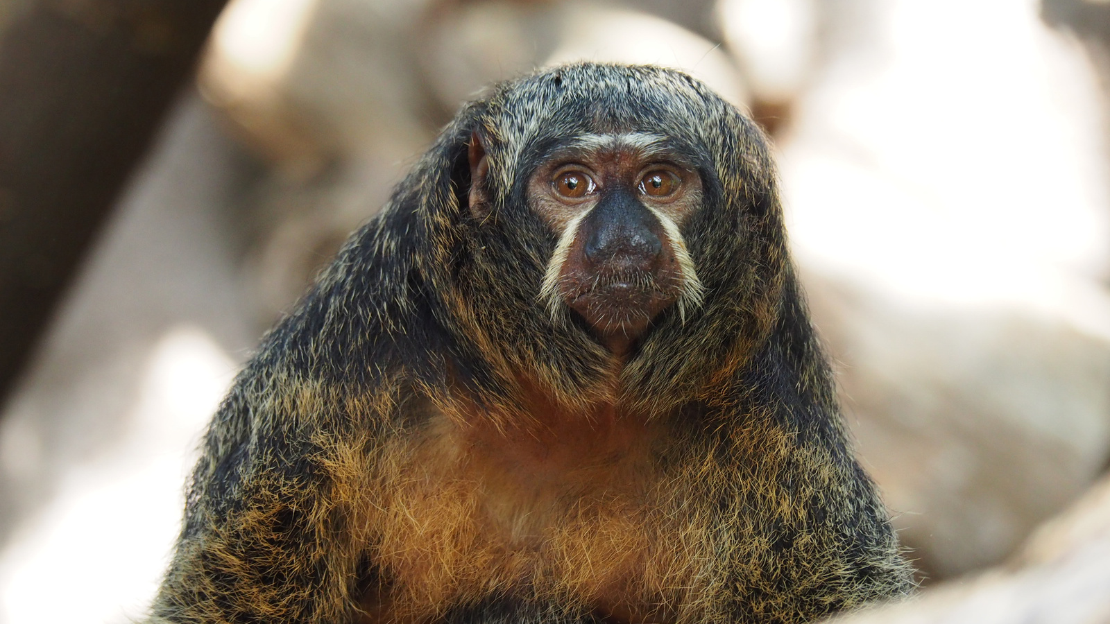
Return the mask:
<path id="1" fill-rule="evenodd" d="M 0 32 L 0 406 L 225 0 L 37 0 Z"/>

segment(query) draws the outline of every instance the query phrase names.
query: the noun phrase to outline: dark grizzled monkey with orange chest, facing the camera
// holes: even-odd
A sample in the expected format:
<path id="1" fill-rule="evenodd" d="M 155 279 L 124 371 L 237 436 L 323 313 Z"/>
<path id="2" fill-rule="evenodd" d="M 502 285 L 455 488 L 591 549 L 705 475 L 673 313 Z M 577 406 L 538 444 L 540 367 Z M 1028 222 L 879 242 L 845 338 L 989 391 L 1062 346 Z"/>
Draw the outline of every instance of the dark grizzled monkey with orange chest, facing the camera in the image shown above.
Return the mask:
<path id="1" fill-rule="evenodd" d="M 236 376 L 150 622 L 809 622 L 907 595 L 768 140 L 689 76 L 464 105 Z"/>

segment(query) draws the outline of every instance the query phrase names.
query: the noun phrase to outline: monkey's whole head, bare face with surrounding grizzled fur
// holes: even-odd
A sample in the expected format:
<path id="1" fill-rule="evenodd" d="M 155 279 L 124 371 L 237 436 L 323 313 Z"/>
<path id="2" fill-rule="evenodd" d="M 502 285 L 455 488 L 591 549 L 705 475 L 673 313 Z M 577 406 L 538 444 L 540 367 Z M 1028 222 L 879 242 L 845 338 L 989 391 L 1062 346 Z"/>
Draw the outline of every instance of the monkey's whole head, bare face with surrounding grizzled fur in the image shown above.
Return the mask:
<path id="1" fill-rule="evenodd" d="M 673 70 L 581 63 L 466 107 L 403 184 L 477 385 L 689 399 L 770 333 L 789 273 L 766 140 Z M 617 383 L 614 383 L 616 380 Z M 511 394 L 511 393 L 505 393 Z M 669 402 L 669 401 L 668 401 Z M 645 404 L 646 404 L 645 403 Z"/>

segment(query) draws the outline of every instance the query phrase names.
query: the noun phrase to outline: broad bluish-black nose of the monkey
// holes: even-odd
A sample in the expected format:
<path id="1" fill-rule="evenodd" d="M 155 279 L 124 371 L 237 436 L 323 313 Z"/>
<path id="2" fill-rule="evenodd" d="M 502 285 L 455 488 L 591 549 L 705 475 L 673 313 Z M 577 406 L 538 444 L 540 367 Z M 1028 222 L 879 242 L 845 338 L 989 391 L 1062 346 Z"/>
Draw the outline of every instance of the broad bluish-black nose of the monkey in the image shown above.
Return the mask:
<path id="1" fill-rule="evenodd" d="M 582 253 L 595 266 L 649 270 L 663 251 L 663 241 L 652 231 L 656 221 L 635 198 L 613 192 L 583 223 L 587 230 Z"/>

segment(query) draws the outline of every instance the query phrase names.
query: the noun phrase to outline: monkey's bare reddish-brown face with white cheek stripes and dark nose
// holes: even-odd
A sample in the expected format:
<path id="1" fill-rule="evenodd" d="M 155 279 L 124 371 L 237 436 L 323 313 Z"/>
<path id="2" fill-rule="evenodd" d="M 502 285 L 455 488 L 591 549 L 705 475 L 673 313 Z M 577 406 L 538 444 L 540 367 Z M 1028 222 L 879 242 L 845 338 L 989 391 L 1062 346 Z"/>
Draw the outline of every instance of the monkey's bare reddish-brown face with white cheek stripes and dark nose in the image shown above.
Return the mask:
<path id="1" fill-rule="evenodd" d="M 558 236 L 541 300 L 553 314 L 565 304 L 614 353 L 664 310 L 700 302 L 680 231 L 702 205 L 702 180 L 665 137 L 578 137 L 541 161 L 527 198 Z"/>

